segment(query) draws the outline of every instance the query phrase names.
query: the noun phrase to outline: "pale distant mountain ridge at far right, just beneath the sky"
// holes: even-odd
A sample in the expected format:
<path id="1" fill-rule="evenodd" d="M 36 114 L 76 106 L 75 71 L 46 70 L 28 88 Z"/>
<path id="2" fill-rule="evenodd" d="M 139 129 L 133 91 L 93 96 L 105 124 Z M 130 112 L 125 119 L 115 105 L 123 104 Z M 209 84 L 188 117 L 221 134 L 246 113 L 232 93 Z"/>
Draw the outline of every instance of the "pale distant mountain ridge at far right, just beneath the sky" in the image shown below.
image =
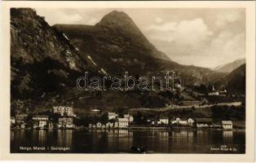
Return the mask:
<path id="1" fill-rule="evenodd" d="M 231 73 L 234 69 L 240 67 L 242 64 L 245 64 L 245 59 L 236 59 L 234 62 L 229 64 L 223 64 L 214 68 L 214 71 L 220 73 Z"/>

